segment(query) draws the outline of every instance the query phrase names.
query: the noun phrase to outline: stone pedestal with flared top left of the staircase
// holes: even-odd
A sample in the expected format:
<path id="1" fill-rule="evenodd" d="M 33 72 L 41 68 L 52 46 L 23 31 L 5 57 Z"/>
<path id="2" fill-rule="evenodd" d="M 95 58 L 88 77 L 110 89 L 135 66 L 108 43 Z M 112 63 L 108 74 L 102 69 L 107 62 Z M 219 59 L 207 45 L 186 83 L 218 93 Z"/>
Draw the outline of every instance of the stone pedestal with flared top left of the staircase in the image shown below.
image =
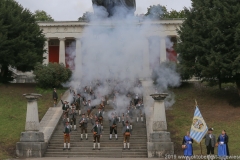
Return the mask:
<path id="1" fill-rule="evenodd" d="M 40 94 L 24 94 L 27 98 L 27 115 L 25 132 L 21 133 L 20 142 L 16 144 L 18 157 L 42 157 L 47 149 L 44 134 L 39 132 L 37 99 Z"/>

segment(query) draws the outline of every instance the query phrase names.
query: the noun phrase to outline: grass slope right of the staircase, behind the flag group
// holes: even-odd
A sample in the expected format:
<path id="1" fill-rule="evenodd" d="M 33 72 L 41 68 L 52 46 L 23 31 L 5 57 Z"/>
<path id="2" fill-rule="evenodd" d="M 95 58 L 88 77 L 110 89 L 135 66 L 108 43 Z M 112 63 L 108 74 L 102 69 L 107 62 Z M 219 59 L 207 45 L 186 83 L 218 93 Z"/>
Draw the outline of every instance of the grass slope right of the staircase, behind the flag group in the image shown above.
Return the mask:
<path id="1" fill-rule="evenodd" d="M 182 138 L 190 130 L 195 111 L 195 99 L 208 127 L 214 128 L 214 134 L 219 136 L 225 129 L 229 135 L 229 150 L 231 155 L 239 155 L 240 149 L 240 97 L 233 85 L 224 85 L 223 90 L 194 83 L 184 83 L 181 87 L 171 89 L 175 93 L 176 103 L 167 110 L 168 130 L 175 144 L 175 153 L 182 155 Z M 195 155 L 200 155 L 200 144 L 193 145 Z M 206 155 L 204 140 L 203 154 Z M 217 154 L 217 149 L 215 149 Z"/>

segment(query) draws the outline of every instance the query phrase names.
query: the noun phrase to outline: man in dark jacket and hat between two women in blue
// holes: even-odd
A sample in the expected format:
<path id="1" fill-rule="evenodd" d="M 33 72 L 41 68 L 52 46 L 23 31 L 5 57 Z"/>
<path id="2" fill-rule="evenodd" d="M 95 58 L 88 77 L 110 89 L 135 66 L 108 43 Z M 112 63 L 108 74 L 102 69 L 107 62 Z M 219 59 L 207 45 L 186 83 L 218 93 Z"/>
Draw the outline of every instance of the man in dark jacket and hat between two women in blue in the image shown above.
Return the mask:
<path id="1" fill-rule="evenodd" d="M 213 132 L 213 128 L 209 128 L 208 129 L 208 133 L 205 135 L 205 145 L 207 148 L 207 158 L 208 160 L 213 159 L 214 157 L 214 147 L 216 145 L 216 137 L 215 135 L 212 133 Z M 211 157 L 211 155 L 212 157 Z"/>

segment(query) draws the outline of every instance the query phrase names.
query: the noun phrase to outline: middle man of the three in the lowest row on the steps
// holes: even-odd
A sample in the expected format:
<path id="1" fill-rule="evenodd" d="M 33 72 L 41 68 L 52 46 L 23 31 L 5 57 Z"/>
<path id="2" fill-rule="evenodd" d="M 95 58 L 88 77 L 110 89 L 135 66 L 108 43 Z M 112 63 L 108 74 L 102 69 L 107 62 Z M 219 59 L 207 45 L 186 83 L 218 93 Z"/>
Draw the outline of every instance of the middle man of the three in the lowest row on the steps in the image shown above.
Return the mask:
<path id="1" fill-rule="evenodd" d="M 96 120 L 95 125 L 92 127 L 93 133 L 93 150 L 96 148 L 96 142 L 98 143 L 98 150 L 100 150 L 100 137 L 102 137 L 102 127 L 99 121 Z"/>

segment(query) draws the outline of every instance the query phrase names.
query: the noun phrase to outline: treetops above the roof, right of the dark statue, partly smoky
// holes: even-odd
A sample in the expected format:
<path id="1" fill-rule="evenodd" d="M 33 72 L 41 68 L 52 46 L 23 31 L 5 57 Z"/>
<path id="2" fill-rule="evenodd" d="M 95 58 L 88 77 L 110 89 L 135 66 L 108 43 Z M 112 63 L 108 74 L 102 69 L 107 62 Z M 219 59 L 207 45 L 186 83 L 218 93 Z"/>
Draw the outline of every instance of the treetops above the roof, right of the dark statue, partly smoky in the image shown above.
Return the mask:
<path id="1" fill-rule="evenodd" d="M 171 10 L 168 11 L 165 6 L 160 4 L 153 5 L 148 8 L 145 16 L 148 16 L 152 19 L 164 19 L 164 18 L 186 18 L 185 10 Z"/>

